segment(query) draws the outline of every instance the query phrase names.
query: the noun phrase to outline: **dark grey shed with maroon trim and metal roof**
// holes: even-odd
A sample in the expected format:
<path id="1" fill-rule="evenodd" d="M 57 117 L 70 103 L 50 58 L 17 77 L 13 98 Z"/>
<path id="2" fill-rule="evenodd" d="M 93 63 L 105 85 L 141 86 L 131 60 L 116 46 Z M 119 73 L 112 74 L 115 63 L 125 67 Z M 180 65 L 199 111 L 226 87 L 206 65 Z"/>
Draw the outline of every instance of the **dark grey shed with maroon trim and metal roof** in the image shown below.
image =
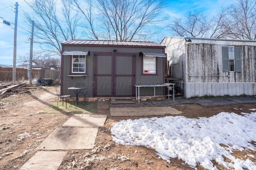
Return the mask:
<path id="1" fill-rule="evenodd" d="M 82 82 L 88 97 L 135 96 L 134 85 L 165 82 L 164 49 L 164 45 L 154 42 L 66 41 L 62 43 L 62 88 Z M 152 95 L 148 93 L 151 91 L 141 91 L 141 95 Z M 157 93 L 165 91 L 158 89 Z"/>

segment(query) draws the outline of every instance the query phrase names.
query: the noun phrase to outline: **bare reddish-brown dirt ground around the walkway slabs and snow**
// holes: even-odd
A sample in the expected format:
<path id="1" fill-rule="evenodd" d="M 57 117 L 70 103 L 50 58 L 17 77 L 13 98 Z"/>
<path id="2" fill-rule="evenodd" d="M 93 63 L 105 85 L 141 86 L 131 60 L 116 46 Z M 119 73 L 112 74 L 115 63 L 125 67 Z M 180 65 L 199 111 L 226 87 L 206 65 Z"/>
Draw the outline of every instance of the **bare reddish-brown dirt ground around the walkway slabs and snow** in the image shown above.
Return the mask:
<path id="1" fill-rule="evenodd" d="M 18 170 L 38 150 L 40 143 L 57 127 L 75 113 L 44 113 L 57 101 L 54 87 L 42 87 L 26 93 L 8 94 L 0 102 L 0 170 Z M 112 117 L 109 101 L 88 102 L 96 105 L 93 114 L 108 115 L 106 123 L 99 128 L 94 149 L 68 150 L 59 170 L 190 170 L 194 169 L 183 160 L 171 158 L 171 163 L 158 158 L 156 151 L 144 146 L 123 146 L 114 143 L 110 134 L 112 123 L 122 119 L 141 117 Z M 200 106 L 198 104 L 178 104 L 172 107 L 182 111 L 189 118 L 210 117 L 222 111 L 240 114 L 255 108 L 256 104 L 236 104 L 224 106 Z M 54 106 L 56 107 L 56 106 Z M 236 108 L 236 109 L 235 109 Z M 77 113 L 76 113 L 77 114 Z M 175 115 L 172 115 L 175 116 Z M 148 116 L 154 117 L 154 116 Z M 163 117 L 163 116 L 157 116 Z M 239 140 L 239 139 L 238 139 Z M 250 159 L 256 164 L 256 151 L 236 150 L 234 155 Z M 224 169 L 213 160 L 218 169 Z M 198 170 L 204 169 L 200 164 Z"/>

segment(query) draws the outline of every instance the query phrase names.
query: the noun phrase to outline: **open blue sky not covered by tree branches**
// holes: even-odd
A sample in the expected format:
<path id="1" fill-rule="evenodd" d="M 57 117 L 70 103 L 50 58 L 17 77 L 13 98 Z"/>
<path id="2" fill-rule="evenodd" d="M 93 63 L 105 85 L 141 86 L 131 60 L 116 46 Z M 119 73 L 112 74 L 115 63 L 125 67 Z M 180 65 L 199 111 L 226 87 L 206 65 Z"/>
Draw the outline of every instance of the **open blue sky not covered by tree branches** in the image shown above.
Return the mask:
<path id="1" fill-rule="evenodd" d="M 31 26 L 26 25 L 22 18 L 22 10 L 30 12 L 24 4 L 24 0 L 0 0 L 0 64 L 13 65 L 14 50 L 14 22 L 15 22 L 15 2 L 18 2 L 18 32 L 17 32 L 17 58 L 29 55 L 30 43 L 25 41 L 30 38 Z M 167 0 L 168 6 L 163 10 L 170 18 L 182 16 L 190 10 L 202 10 L 209 15 L 214 14 L 222 5 L 234 3 L 235 0 Z M 3 19 L 10 21 L 10 26 L 3 23 Z M 164 33 L 164 36 L 172 36 Z M 163 38 L 162 37 L 162 38 Z M 160 37 L 161 38 L 161 37 Z M 161 38 L 161 39 L 162 39 Z M 159 39 L 150 40 L 159 42 Z M 34 44 L 34 51 L 39 47 Z"/>

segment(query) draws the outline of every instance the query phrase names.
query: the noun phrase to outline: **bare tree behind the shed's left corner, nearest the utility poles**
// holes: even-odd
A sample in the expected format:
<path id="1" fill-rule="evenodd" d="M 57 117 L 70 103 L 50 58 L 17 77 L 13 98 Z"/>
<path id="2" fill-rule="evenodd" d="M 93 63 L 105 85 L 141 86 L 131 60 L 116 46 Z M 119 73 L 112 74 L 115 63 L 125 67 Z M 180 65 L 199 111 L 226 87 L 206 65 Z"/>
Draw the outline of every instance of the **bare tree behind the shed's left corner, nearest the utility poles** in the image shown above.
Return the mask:
<path id="1" fill-rule="evenodd" d="M 34 14 L 25 13 L 26 21 L 34 20 L 34 43 L 39 43 L 44 51 L 52 55 L 61 54 L 61 43 L 77 36 L 78 14 L 72 12 L 66 0 L 24 0 Z M 60 8 L 61 12 L 57 12 Z"/>

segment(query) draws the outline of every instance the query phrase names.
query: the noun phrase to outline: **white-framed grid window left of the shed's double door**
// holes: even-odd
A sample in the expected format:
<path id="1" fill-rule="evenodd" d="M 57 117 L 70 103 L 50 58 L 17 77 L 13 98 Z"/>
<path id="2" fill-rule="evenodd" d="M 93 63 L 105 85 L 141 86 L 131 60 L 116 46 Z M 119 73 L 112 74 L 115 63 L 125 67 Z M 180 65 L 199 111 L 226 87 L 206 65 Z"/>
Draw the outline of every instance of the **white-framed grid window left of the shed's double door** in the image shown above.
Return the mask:
<path id="1" fill-rule="evenodd" d="M 72 73 L 85 73 L 85 55 L 72 55 Z"/>

